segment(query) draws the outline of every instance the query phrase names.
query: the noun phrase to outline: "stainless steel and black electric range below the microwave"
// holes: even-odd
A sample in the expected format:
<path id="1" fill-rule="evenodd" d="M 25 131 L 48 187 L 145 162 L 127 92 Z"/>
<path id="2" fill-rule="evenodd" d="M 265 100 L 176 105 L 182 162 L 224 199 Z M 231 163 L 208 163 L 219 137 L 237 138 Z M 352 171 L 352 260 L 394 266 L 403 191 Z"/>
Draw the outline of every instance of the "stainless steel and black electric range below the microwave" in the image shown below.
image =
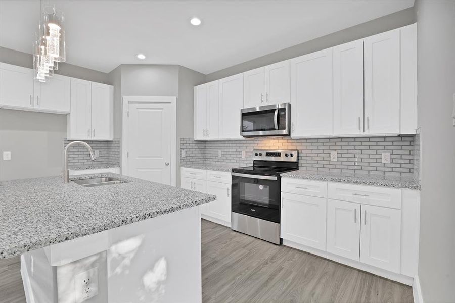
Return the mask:
<path id="1" fill-rule="evenodd" d="M 297 150 L 253 150 L 253 166 L 232 169 L 232 229 L 280 245 L 281 174 L 298 169 Z"/>

